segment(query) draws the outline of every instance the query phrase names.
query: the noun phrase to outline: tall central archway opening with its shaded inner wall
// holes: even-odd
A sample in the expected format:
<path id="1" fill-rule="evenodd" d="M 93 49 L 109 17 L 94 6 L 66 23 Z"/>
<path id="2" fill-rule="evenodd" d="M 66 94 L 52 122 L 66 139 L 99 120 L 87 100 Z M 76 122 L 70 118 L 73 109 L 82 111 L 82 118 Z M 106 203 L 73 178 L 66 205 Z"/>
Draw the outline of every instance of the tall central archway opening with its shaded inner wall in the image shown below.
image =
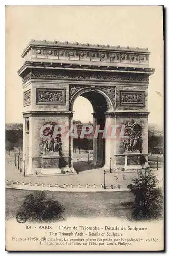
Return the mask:
<path id="1" fill-rule="evenodd" d="M 97 129 L 99 127 L 99 130 L 104 130 L 107 110 L 105 97 L 96 91 L 83 92 L 74 100 L 73 124 L 76 124 L 78 139 L 73 139 L 73 167 L 79 172 L 101 168 L 105 164 L 103 132 L 99 132 L 96 138 L 94 134 L 96 126 Z M 92 125 L 93 131 L 81 139 L 80 135 L 84 125 Z"/>

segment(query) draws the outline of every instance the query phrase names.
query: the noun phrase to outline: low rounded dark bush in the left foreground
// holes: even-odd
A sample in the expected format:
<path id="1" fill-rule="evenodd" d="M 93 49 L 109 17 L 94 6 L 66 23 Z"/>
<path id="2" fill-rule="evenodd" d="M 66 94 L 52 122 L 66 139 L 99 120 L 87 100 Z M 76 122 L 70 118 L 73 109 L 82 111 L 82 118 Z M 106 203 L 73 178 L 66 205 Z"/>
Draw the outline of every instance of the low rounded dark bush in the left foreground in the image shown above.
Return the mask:
<path id="1" fill-rule="evenodd" d="M 32 220 L 51 221 L 62 219 L 64 207 L 58 201 L 47 198 L 44 191 L 36 191 L 25 197 L 19 211 L 30 216 Z"/>

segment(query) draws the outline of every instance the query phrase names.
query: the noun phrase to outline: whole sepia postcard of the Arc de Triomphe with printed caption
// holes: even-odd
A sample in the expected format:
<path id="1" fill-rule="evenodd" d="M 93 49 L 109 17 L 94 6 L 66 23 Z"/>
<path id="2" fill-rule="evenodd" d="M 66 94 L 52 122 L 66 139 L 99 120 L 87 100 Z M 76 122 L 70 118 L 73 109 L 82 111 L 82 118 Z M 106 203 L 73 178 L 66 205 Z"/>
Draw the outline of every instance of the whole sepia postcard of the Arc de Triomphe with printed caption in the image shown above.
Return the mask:
<path id="1" fill-rule="evenodd" d="M 6 6 L 6 250 L 163 251 L 163 6 Z"/>

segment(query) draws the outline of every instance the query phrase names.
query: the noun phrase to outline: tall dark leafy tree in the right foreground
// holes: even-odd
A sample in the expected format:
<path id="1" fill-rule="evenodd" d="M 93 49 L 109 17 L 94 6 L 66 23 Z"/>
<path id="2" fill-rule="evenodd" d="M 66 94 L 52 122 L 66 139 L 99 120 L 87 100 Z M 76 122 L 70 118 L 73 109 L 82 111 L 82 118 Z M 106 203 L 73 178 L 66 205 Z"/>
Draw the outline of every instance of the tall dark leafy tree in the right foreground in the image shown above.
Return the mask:
<path id="1" fill-rule="evenodd" d="M 162 213 L 163 196 L 158 180 L 150 168 L 138 171 L 127 188 L 135 196 L 133 204 L 134 219 L 156 219 Z"/>

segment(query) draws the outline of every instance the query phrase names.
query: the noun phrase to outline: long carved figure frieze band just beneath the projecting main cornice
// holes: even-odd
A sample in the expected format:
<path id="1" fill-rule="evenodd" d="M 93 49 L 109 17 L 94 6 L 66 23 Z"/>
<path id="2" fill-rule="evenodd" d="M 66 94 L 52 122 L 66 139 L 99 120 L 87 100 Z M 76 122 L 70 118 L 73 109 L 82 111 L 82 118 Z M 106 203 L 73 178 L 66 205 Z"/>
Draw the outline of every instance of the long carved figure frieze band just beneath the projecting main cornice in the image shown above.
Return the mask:
<path id="1" fill-rule="evenodd" d="M 142 82 L 148 83 L 149 76 L 145 74 L 131 73 L 102 73 L 88 71 L 64 71 L 64 70 L 32 70 L 23 77 L 23 82 L 29 79 L 68 79 L 68 80 L 94 80 L 112 82 Z"/>

